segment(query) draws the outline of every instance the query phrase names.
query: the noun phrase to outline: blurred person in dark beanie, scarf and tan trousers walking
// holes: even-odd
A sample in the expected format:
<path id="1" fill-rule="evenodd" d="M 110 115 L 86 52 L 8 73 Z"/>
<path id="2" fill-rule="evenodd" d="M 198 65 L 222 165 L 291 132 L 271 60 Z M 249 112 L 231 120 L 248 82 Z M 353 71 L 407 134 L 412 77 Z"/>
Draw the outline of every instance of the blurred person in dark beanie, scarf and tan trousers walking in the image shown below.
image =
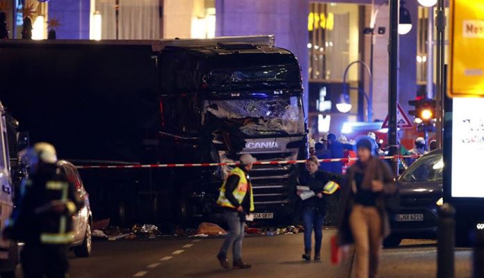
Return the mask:
<path id="1" fill-rule="evenodd" d="M 341 191 L 338 220 L 339 245 L 355 244 L 357 278 L 375 278 L 382 240 L 389 235 L 389 197 L 397 193 L 387 163 L 371 155 L 371 142 L 357 142 L 359 161 L 348 168 L 347 186 Z"/>

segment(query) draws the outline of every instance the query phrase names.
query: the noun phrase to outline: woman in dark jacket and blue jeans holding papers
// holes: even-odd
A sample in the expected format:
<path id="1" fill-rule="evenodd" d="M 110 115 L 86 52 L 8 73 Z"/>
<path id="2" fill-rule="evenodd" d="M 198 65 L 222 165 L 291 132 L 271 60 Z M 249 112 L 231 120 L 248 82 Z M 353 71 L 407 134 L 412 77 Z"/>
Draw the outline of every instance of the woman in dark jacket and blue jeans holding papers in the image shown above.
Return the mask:
<path id="1" fill-rule="evenodd" d="M 314 192 L 314 196 L 302 201 L 302 220 L 304 222 L 304 247 L 302 259 L 311 259 L 311 238 L 314 230 L 314 260 L 321 259 L 321 241 L 323 240 L 323 223 L 326 215 L 326 200 L 323 194 L 324 186 L 328 181 L 339 179 L 339 176 L 318 170 L 319 161 L 316 156 L 311 156 L 306 161 L 306 171 L 299 177 L 299 185 L 307 186 Z M 306 194 L 302 190 L 296 193 L 298 196 Z"/>

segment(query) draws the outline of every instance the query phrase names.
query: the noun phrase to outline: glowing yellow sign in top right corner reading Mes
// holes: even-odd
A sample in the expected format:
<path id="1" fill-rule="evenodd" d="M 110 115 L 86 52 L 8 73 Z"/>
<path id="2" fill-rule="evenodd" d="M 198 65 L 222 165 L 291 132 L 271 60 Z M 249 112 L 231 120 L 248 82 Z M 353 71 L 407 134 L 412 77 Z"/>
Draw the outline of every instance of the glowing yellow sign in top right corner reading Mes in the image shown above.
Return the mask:
<path id="1" fill-rule="evenodd" d="M 484 0 L 451 0 L 449 97 L 484 97 Z"/>

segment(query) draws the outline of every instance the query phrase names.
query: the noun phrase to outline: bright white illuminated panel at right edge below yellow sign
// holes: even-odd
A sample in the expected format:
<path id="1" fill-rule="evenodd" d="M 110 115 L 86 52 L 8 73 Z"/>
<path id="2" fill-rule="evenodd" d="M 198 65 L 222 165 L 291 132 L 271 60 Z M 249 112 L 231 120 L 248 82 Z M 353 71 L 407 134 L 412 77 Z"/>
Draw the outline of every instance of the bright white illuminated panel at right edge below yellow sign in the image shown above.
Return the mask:
<path id="1" fill-rule="evenodd" d="M 455 97 L 452 115 L 452 197 L 484 197 L 484 99 Z"/>

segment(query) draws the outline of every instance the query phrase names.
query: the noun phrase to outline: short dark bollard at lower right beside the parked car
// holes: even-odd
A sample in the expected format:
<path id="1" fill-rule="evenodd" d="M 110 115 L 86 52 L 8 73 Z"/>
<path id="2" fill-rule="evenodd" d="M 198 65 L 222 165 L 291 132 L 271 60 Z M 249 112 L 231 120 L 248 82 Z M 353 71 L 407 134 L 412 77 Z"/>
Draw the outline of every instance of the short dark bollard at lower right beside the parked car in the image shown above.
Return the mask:
<path id="1" fill-rule="evenodd" d="M 455 209 L 451 204 L 439 208 L 437 232 L 437 278 L 453 278 L 455 248 Z"/>

